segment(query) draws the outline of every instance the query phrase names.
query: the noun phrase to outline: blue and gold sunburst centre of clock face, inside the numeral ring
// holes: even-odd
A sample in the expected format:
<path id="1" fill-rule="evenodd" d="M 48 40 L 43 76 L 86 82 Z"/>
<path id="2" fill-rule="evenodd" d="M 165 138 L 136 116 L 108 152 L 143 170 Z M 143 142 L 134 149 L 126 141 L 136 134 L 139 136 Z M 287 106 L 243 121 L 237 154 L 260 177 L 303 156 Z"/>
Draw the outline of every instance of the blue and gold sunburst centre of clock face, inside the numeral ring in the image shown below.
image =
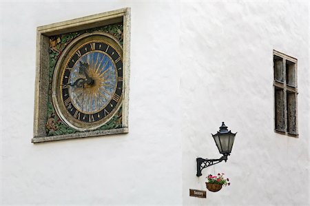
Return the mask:
<path id="1" fill-rule="evenodd" d="M 73 66 L 68 76 L 71 85 L 62 90 L 63 97 L 71 96 L 71 103 L 84 114 L 98 113 L 109 103 L 116 90 L 116 66 L 104 52 L 89 52 Z M 64 81 L 64 80 L 63 80 Z M 71 112 L 73 107 L 69 110 Z M 88 121 L 79 114 L 79 120 Z M 103 116 L 97 114 L 98 119 Z"/>

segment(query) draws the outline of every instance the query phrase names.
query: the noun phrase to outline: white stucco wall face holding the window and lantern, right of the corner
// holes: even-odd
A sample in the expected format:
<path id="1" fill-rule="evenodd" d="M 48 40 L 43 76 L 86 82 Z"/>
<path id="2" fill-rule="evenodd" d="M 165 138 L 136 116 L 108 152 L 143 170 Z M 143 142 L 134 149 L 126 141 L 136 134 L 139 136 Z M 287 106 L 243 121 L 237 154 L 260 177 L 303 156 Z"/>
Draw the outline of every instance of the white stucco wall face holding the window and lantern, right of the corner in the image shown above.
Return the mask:
<path id="1" fill-rule="evenodd" d="M 200 2 L 181 5 L 184 205 L 308 205 L 309 4 Z M 273 50 L 298 59 L 299 138 L 273 132 Z M 210 133 L 236 135 L 227 163 L 196 178 L 196 157 L 219 158 Z M 231 186 L 191 198 L 207 174 Z"/>

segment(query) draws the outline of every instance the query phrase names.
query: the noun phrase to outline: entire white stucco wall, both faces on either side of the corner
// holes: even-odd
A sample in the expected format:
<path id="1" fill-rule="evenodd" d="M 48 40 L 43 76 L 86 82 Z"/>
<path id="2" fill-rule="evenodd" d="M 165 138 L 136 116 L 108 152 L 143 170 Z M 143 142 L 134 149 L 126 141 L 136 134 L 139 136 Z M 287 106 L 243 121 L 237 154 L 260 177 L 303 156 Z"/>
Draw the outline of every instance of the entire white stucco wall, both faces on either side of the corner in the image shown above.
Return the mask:
<path id="1" fill-rule="evenodd" d="M 124 7 L 130 133 L 30 143 L 37 26 Z M 0 39 L 3 205 L 309 204 L 307 1 L 0 2 Z M 299 138 L 273 132 L 273 49 L 298 59 Z M 197 178 L 222 121 L 233 152 Z M 231 186 L 189 197 L 210 172 Z"/>

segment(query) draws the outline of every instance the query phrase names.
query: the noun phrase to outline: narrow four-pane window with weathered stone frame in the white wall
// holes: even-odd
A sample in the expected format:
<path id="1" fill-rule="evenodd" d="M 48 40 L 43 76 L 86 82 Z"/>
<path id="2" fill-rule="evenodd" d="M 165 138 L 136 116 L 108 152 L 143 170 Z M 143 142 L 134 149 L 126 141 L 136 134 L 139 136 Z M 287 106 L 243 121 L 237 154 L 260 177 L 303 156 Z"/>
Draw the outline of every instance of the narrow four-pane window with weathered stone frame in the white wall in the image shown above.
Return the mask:
<path id="1" fill-rule="evenodd" d="M 275 131 L 297 136 L 297 59 L 273 50 L 273 74 Z"/>

